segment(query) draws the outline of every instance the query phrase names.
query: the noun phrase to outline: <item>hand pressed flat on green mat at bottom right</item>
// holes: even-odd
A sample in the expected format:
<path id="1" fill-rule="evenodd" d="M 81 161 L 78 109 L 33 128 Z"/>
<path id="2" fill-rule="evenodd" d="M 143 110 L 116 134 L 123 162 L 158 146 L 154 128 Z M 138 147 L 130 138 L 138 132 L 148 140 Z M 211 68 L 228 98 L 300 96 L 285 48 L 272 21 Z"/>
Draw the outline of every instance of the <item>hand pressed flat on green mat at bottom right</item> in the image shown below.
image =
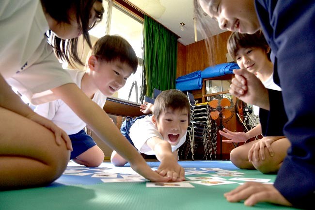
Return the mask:
<path id="1" fill-rule="evenodd" d="M 245 200 L 244 204 L 246 206 L 253 206 L 258 202 L 292 206 L 292 204 L 287 201 L 273 185 L 257 182 L 246 182 L 235 190 L 225 193 L 224 197 L 229 202 Z"/>

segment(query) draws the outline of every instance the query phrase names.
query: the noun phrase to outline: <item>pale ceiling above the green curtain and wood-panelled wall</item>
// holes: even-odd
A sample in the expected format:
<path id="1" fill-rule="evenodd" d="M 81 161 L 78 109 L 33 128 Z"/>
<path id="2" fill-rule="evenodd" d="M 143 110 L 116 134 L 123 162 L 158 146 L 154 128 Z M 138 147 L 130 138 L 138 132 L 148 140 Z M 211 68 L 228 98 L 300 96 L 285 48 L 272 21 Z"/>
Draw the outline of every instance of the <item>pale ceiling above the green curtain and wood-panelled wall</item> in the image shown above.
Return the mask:
<path id="1" fill-rule="evenodd" d="M 171 30 L 183 45 L 195 42 L 193 0 L 127 0 L 142 12 Z M 180 23 L 185 23 L 181 28 Z M 212 35 L 222 31 L 215 20 L 210 20 Z M 204 39 L 197 29 L 197 41 Z"/>

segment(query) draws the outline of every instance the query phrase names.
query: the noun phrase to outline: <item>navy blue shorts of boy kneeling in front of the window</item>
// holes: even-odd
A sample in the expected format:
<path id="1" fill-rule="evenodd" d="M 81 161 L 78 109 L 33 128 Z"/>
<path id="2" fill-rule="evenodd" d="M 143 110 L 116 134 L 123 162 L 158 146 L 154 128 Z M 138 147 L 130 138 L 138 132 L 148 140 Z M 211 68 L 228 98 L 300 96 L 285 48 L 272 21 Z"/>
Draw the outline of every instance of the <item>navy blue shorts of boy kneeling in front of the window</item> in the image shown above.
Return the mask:
<path id="1" fill-rule="evenodd" d="M 79 133 L 69 135 L 71 139 L 73 151 L 70 155 L 70 160 L 78 157 L 80 154 L 96 145 L 91 136 L 86 134 L 84 130 L 80 130 Z"/>

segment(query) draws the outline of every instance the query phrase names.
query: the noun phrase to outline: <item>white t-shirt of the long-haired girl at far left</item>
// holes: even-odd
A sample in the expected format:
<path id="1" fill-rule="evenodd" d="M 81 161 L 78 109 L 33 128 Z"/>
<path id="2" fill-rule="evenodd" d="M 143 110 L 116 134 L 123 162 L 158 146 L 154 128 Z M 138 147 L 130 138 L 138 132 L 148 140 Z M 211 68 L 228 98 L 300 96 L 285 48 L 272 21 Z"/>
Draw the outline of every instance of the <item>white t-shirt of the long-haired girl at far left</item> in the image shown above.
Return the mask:
<path id="1" fill-rule="evenodd" d="M 50 89 L 73 83 L 47 43 L 40 0 L 1 0 L 0 29 L 0 73 L 31 103 L 55 100 Z"/>

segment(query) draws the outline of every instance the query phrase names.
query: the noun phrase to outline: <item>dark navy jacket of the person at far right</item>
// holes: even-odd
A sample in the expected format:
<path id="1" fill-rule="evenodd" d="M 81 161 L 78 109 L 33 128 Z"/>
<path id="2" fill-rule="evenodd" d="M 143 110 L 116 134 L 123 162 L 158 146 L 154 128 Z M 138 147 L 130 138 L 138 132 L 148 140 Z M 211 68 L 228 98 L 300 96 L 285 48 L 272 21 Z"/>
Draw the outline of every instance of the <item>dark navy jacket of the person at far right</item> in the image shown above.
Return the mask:
<path id="1" fill-rule="evenodd" d="M 274 81 L 282 88 L 282 93 L 269 90 L 270 112 L 260 115 L 262 128 L 274 135 L 277 114 L 286 113 L 284 135 L 292 144 L 274 186 L 295 207 L 311 209 L 315 201 L 315 0 L 255 0 L 255 6 L 275 55 Z"/>

